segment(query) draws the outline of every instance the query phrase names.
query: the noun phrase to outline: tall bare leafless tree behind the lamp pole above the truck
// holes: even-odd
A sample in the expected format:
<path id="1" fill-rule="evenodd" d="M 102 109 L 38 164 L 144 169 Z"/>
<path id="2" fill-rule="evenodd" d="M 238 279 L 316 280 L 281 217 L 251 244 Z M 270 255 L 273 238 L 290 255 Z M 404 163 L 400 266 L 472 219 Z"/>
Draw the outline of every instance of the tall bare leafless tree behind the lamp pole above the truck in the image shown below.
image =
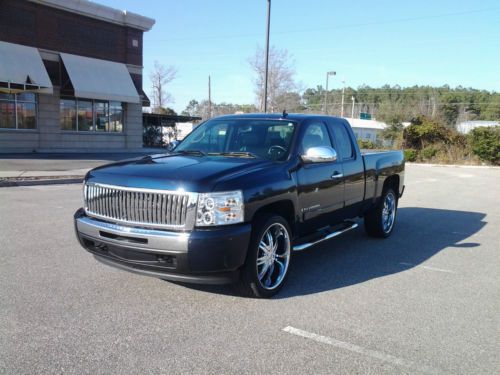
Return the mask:
<path id="1" fill-rule="evenodd" d="M 260 110 L 264 110 L 264 85 L 265 85 L 265 50 L 258 47 L 255 55 L 248 60 L 250 66 L 255 72 L 255 94 L 259 103 Z M 292 57 L 286 49 L 278 49 L 272 46 L 269 49 L 269 71 L 268 71 L 268 108 L 271 112 L 280 111 L 279 101 L 283 95 L 293 92 L 297 88 L 294 81 L 295 69 Z"/>

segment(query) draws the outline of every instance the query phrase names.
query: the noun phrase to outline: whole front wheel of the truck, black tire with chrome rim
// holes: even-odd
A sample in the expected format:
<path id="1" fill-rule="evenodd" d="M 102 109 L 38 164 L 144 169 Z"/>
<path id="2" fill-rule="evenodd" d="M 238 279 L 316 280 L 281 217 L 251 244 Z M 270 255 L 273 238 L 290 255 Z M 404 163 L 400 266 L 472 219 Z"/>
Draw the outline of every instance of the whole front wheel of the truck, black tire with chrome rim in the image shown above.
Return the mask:
<path id="1" fill-rule="evenodd" d="M 254 230 L 239 282 L 242 294 L 269 298 L 285 283 L 292 252 L 288 222 L 278 215 L 254 220 Z"/>

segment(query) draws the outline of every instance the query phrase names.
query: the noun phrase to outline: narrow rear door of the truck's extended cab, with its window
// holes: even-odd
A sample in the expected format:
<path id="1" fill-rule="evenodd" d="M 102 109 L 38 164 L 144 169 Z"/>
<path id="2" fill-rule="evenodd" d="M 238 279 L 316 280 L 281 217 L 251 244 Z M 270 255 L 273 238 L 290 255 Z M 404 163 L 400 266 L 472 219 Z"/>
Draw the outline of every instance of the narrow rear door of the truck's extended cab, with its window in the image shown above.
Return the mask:
<path id="1" fill-rule="evenodd" d="M 331 119 L 328 122 L 328 129 L 332 135 L 335 151 L 342 163 L 345 191 L 345 208 L 348 211 L 356 210 L 358 204 L 363 202 L 365 196 L 365 171 L 361 155 L 356 153 L 353 144 L 354 137 L 344 120 Z M 346 216 L 353 215 L 346 212 Z M 356 216 L 357 213 L 354 214 Z"/>

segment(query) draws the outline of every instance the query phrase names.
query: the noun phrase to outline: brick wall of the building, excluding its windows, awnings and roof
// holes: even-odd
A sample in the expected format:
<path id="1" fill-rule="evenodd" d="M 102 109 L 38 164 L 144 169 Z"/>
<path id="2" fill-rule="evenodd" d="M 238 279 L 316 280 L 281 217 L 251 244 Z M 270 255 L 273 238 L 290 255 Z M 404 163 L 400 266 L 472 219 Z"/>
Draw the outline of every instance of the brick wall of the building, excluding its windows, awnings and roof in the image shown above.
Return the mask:
<path id="1" fill-rule="evenodd" d="M 54 85 L 38 95 L 36 130 L 0 129 L 0 152 L 112 151 L 142 147 L 142 106 L 124 104 L 121 133 L 60 129 L 60 87 L 68 76 L 60 52 L 124 63 L 141 95 L 143 31 L 24 0 L 0 0 L 0 40 L 40 50 Z M 66 88 L 65 88 L 66 90 Z M 72 95 L 64 91 L 65 95 Z"/>

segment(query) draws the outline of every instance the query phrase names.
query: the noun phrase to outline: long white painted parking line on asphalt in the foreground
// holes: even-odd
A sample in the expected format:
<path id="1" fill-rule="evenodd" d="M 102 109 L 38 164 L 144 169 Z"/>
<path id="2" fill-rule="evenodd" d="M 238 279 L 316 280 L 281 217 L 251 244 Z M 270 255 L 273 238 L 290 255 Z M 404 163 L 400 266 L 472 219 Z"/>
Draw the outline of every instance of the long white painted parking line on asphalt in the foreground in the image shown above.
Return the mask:
<path id="1" fill-rule="evenodd" d="M 378 359 L 384 362 L 391 363 L 393 365 L 401 366 L 401 367 L 406 367 L 415 371 L 419 371 L 422 373 L 426 374 L 443 374 L 443 371 L 437 370 L 435 368 L 418 364 L 412 361 L 409 361 L 407 359 L 399 358 L 390 354 L 382 353 L 376 350 L 371 350 L 371 349 L 366 349 L 363 348 L 362 346 L 359 345 L 354 345 L 345 341 L 340 341 L 337 339 L 334 339 L 333 337 L 328 337 L 328 336 L 321 336 L 316 333 L 304 331 L 302 329 L 294 328 L 294 327 L 285 327 L 283 328 L 283 331 L 288 332 L 292 335 L 295 336 L 300 336 L 304 337 L 307 339 L 311 339 L 317 342 L 320 342 L 322 344 L 328 344 L 340 349 L 344 350 L 349 350 L 354 353 L 362 354 L 367 357 L 371 357 L 374 359 Z"/>

